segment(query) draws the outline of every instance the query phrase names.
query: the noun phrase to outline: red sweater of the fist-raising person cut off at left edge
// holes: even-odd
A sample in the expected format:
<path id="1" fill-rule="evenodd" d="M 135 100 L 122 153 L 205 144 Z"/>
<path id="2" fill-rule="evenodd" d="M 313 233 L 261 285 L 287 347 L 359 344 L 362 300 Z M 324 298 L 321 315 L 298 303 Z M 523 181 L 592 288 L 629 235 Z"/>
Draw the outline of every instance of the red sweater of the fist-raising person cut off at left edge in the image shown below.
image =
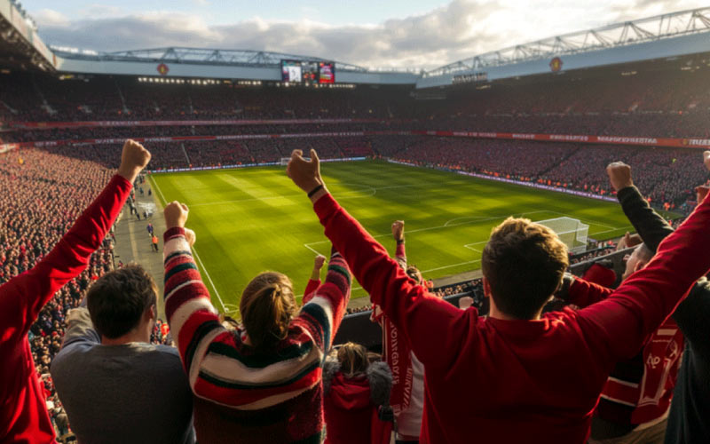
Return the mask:
<path id="1" fill-rule="evenodd" d="M 54 293 L 89 264 L 129 192 L 130 182 L 114 176 L 39 264 L 0 287 L 0 442 L 56 442 L 28 330 Z"/>

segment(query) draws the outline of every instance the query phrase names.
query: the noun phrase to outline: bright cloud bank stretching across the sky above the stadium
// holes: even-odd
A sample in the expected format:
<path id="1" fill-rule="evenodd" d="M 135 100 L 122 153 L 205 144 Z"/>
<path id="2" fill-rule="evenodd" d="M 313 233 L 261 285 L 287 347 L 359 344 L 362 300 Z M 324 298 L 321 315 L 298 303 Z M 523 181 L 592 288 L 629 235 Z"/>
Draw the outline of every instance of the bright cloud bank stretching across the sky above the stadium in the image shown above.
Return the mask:
<path id="1" fill-rule="evenodd" d="M 430 12 L 367 26 L 260 18 L 211 26 L 197 15 L 165 11 L 77 20 L 50 10 L 35 15 L 45 43 L 97 51 L 192 46 L 304 54 L 365 67 L 430 68 L 548 36 L 698 7 L 696 3 L 453 0 Z"/>

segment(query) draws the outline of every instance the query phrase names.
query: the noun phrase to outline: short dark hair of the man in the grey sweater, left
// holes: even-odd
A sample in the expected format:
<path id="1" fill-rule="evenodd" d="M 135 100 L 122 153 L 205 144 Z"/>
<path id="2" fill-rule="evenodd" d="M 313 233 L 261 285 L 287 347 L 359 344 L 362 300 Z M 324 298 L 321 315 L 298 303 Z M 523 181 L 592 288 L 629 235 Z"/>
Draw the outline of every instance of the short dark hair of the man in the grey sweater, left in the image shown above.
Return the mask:
<path id="1" fill-rule="evenodd" d="M 91 322 L 103 337 L 122 337 L 155 305 L 157 293 L 153 277 L 138 264 L 104 274 L 86 294 Z"/>

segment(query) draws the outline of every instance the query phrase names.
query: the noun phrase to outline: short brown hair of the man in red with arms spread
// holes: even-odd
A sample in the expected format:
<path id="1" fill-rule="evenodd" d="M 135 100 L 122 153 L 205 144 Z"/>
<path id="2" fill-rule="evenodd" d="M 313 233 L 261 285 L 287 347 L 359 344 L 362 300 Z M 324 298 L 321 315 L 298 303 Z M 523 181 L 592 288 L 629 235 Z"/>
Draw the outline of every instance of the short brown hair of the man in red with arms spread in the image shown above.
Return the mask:
<path id="1" fill-rule="evenodd" d="M 493 302 L 509 316 L 533 319 L 562 281 L 567 247 L 547 226 L 507 218 L 493 228 L 481 268 Z"/>

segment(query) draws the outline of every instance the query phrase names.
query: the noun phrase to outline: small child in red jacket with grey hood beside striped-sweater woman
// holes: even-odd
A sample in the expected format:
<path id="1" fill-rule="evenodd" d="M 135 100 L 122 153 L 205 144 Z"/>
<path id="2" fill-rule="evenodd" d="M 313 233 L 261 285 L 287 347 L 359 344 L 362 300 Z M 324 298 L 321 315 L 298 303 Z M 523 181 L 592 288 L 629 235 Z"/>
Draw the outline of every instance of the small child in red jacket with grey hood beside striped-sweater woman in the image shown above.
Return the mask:
<path id="1" fill-rule="evenodd" d="M 323 367 L 326 444 L 390 444 L 392 424 L 379 417 L 380 408 L 390 409 L 390 368 L 370 364 L 367 348 L 351 342 L 335 355 Z"/>

